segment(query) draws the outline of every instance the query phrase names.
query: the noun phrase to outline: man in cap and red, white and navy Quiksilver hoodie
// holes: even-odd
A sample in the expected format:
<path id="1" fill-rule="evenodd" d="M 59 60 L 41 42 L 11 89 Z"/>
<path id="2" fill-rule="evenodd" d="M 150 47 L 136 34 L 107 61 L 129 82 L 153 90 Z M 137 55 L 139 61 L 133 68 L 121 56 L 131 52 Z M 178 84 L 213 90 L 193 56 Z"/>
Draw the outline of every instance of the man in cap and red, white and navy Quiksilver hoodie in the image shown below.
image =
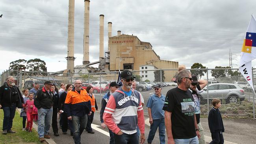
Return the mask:
<path id="1" fill-rule="evenodd" d="M 121 73 L 122 88 L 109 96 L 103 120 L 114 132 L 115 144 L 138 144 L 136 126 L 141 131 L 140 143 L 145 142 L 145 121 L 141 105 L 141 94 L 132 89 L 135 79 L 130 70 Z"/>

